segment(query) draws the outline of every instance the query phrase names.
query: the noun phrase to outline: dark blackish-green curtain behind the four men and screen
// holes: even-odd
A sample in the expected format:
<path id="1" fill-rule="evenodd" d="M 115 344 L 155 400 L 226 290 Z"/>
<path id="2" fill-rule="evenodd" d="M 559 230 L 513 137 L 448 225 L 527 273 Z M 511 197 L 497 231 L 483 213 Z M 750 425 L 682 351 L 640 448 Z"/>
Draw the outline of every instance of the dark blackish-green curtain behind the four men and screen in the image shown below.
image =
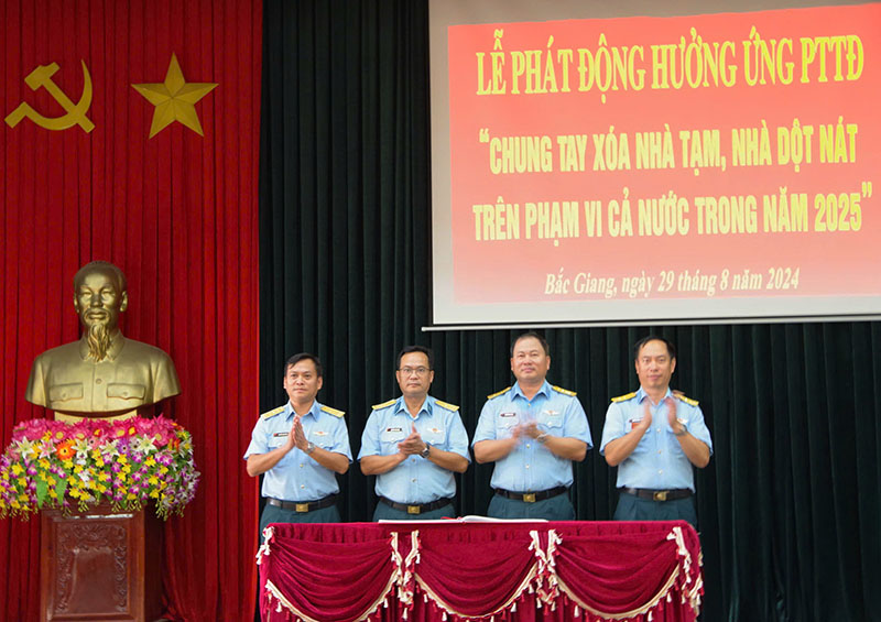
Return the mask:
<path id="1" fill-rule="evenodd" d="M 352 452 L 371 404 L 398 396 L 394 358 L 434 349 L 432 393 L 469 434 L 511 384 L 519 331 L 423 332 L 431 323 L 426 0 L 268 0 L 261 137 L 261 406 L 282 365 L 325 363 L 318 399 L 345 410 Z M 874 266 L 872 266 L 873 269 Z M 697 473 L 704 620 L 881 619 L 881 325 L 831 323 L 550 329 L 550 380 L 578 392 L 595 444 L 609 399 L 637 388 L 632 343 L 679 350 L 675 388 L 715 444 Z M 257 413 L 253 414 L 257 416 Z M 491 466 L 458 479 L 485 513 Z M 577 466 L 580 520 L 608 520 L 614 471 Z M 372 515 L 372 478 L 340 480 L 347 521 Z"/>

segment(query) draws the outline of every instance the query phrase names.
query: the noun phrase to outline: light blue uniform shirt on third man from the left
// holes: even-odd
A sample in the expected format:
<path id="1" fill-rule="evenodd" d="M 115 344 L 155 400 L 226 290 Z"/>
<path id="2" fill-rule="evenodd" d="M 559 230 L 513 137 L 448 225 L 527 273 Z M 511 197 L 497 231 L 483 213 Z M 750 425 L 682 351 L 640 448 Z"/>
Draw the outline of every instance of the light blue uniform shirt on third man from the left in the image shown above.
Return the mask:
<path id="1" fill-rule="evenodd" d="M 588 449 L 594 447 L 587 415 L 575 393 L 552 386 L 547 381 L 532 400 L 523 394 L 520 383 L 491 395 L 480 412 L 471 446 L 481 440 L 510 438 L 516 425 L 532 421 L 551 436 L 577 438 Z M 524 437 L 508 456 L 496 461 L 490 484 L 513 492 L 532 492 L 570 487 L 573 479 L 572 460 Z"/>

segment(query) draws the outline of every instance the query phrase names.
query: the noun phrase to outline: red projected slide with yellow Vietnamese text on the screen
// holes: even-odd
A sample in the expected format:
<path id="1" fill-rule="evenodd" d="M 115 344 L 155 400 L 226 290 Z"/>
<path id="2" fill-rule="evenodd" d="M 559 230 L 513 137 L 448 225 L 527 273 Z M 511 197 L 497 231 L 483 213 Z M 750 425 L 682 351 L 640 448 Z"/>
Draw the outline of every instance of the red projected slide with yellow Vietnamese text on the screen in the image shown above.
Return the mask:
<path id="1" fill-rule="evenodd" d="M 443 304 L 881 312 L 881 6 L 452 25 L 447 54 Z"/>

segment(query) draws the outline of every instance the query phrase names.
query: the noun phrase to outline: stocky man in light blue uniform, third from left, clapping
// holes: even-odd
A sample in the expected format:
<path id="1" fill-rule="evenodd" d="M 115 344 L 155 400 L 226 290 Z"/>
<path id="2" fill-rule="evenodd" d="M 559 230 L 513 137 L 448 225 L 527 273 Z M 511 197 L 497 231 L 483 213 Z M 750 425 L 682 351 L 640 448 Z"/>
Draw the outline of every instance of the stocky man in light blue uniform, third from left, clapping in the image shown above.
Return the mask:
<path id="1" fill-rule="evenodd" d="M 478 462 L 496 462 L 492 517 L 575 520 L 572 463 L 585 459 L 592 440 L 580 402 L 547 383 L 550 369 L 547 341 L 532 331 L 519 336 L 511 346 L 516 382 L 480 412 L 474 450 Z"/>

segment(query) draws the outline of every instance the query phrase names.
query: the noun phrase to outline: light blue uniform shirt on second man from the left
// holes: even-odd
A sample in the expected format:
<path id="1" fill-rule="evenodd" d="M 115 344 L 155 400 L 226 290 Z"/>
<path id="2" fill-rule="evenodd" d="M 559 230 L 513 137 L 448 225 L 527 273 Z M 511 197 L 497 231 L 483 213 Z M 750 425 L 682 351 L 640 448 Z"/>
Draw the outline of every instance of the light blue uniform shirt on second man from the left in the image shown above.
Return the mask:
<path id="1" fill-rule="evenodd" d="M 468 434 L 458 406 L 425 399 L 416 418 L 410 415 L 404 397 L 373 406 L 361 435 L 360 460 L 365 456 L 398 454 L 398 444 L 416 427 L 425 443 L 444 451 L 453 451 L 471 460 Z M 456 494 L 453 471 L 438 467 L 427 458 L 410 456 L 391 471 L 377 476 L 377 494 L 396 503 L 423 504 Z"/>

